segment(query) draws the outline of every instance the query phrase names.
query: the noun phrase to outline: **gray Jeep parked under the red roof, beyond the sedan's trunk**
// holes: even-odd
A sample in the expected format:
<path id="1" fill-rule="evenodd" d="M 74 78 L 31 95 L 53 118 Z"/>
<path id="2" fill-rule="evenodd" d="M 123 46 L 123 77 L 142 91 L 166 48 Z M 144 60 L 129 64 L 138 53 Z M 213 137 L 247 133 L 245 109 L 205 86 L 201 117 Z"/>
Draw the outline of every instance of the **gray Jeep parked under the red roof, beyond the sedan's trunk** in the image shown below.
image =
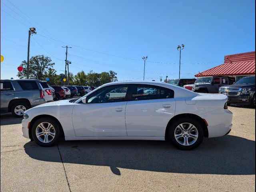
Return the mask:
<path id="1" fill-rule="evenodd" d="M 183 87 L 198 93 L 218 93 L 221 86 L 232 85 L 235 81 L 234 77 L 198 77 L 194 84 Z"/>

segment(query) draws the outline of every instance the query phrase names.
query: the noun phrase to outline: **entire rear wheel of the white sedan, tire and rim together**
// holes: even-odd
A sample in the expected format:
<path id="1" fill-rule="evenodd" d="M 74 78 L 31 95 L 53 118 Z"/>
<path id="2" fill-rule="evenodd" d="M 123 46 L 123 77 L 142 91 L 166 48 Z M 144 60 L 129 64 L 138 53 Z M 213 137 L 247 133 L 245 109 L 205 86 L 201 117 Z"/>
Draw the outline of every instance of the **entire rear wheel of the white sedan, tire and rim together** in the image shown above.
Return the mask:
<path id="1" fill-rule="evenodd" d="M 183 125 L 184 131 L 182 131 L 180 125 Z M 192 127 L 189 131 L 188 128 L 190 126 Z M 175 138 L 175 134 L 177 135 L 177 139 Z M 197 135 L 197 138 L 195 135 Z M 196 119 L 180 118 L 170 125 L 168 138 L 176 148 L 181 150 L 192 150 L 202 143 L 204 139 L 204 131 L 202 125 Z M 186 142 L 184 140 L 186 140 Z"/>

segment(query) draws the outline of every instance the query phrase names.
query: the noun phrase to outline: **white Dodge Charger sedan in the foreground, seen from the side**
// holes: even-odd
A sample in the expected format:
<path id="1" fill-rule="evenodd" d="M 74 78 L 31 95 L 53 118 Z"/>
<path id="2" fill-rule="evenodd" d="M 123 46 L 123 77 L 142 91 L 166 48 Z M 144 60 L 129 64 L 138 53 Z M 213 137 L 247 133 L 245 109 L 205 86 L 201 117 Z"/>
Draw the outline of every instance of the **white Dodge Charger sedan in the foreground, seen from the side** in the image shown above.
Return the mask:
<path id="1" fill-rule="evenodd" d="M 145 91 L 153 90 L 153 91 Z M 157 82 L 112 82 L 80 99 L 26 110 L 23 136 L 40 146 L 65 140 L 169 140 L 182 150 L 228 134 L 227 96 Z"/>

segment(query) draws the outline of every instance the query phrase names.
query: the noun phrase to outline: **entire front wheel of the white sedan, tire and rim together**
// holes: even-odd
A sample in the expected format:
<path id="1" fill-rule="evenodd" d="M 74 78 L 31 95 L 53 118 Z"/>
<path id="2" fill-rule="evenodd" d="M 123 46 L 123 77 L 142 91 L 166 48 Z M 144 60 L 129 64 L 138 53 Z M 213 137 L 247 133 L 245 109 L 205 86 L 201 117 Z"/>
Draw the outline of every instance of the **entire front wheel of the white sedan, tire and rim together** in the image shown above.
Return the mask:
<path id="1" fill-rule="evenodd" d="M 52 126 L 50 126 L 47 130 L 48 125 Z M 38 145 L 42 147 L 50 147 L 57 144 L 57 142 L 60 140 L 61 129 L 56 120 L 48 117 L 43 117 L 34 122 L 31 133 L 33 140 Z M 42 134 L 40 134 L 40 136 L 37 136 L 38 133 Z"/>

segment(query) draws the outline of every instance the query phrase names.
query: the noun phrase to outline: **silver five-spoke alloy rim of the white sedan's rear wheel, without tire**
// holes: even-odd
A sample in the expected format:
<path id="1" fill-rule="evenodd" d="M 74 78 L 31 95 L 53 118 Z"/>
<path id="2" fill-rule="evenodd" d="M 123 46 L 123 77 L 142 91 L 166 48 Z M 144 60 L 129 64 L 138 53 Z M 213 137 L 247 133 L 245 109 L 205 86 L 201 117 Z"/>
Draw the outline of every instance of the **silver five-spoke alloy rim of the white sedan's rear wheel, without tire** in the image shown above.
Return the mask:
<path id="1" fill-rule="evenodd" d="M 176 141 L 183 146 L 190 146 L 198 139 L 198 130 L 191 123 L 179 124 L 174 131 Z"/>

